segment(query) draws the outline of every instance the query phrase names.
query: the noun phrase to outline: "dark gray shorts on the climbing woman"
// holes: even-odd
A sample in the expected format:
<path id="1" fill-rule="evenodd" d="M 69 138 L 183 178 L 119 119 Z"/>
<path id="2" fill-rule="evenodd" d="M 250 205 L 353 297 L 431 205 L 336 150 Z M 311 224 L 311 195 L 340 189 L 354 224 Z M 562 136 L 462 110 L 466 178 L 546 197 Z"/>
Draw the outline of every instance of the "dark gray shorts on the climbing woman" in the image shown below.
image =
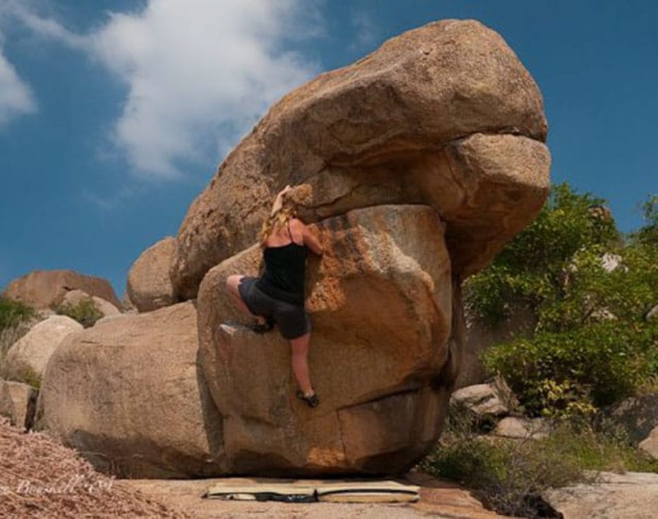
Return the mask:
<path id="1" fill-rule="evenodd" d="M 274 299 L 256 286 L 256 277 L 243 276 L 238 292 L 254 316 L 272 317 L 283 338 L 296 339 L 311 331 L 311 320 L 304 307 Z"/>

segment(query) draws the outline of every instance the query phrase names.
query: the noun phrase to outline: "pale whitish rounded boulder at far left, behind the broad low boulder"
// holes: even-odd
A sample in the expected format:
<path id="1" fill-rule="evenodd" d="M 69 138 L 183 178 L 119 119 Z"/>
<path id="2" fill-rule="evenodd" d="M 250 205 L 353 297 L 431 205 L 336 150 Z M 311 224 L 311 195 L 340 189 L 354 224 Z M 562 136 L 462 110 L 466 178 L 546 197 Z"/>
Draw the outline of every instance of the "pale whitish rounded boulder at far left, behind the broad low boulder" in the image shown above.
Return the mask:
<path id="1" fill-rule="evenodd" d="M 26 366 L 42 376 L 64 338 L 80 330 L 82 325 L 66 316 L 51 316 L 39 322 L 10 347 L 4 361 L 6 376 L 19 377 Z"/>

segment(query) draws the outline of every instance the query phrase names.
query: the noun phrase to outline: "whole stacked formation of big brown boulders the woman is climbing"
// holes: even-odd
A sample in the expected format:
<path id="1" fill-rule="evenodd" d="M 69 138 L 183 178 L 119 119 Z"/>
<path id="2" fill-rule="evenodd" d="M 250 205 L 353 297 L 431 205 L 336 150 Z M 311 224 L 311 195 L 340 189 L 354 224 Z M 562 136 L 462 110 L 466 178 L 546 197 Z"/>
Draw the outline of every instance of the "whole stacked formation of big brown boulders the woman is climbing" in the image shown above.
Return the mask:
<path id="1" fill-rule="evenodd" d="M 143 313 L 53 353 L 37 426 L 133 477 L 407 470 L 440 435 L 461 370 L 463 279 L 546 199 L 546 131 L 531 75 L 472 20 L 411 30 L 300 86 L 134 267 Z M 256 235 L 286 184 L 325 249 L 306 277 L 315 409 L 294 397 L 287 342 L 244 326 L 224 288 L 258 275 Z"/>

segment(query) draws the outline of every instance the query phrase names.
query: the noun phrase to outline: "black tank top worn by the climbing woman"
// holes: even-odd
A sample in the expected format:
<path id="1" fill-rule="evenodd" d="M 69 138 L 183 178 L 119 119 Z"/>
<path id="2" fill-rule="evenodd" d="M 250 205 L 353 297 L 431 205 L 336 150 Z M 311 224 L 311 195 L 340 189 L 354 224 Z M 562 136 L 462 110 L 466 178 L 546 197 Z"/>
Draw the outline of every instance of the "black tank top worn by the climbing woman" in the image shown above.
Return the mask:
<path id="1" fill-rule="evenodd" d="M 304 305 L 304 275 L 308 250 L 305 245 L 292 241 L 278 247 L 266 247 L 263 251 L 265 272 L 256 286 L 272 298 Z"/>

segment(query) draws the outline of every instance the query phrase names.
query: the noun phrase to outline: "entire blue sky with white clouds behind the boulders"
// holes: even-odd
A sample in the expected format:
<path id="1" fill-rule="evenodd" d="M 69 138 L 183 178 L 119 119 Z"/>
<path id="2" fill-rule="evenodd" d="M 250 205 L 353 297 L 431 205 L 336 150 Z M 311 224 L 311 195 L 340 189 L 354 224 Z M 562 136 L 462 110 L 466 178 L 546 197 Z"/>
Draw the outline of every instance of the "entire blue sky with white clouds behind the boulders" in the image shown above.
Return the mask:
<path id="1" fill-rule="evenodd" d="M 544 95 L 551 170 L 622 230 L 658 192 L 658 3 L 0 0 L 0 287 L 105 277 L 175 235 L 269 104 L 429 21 L 497 30 Z"/>

